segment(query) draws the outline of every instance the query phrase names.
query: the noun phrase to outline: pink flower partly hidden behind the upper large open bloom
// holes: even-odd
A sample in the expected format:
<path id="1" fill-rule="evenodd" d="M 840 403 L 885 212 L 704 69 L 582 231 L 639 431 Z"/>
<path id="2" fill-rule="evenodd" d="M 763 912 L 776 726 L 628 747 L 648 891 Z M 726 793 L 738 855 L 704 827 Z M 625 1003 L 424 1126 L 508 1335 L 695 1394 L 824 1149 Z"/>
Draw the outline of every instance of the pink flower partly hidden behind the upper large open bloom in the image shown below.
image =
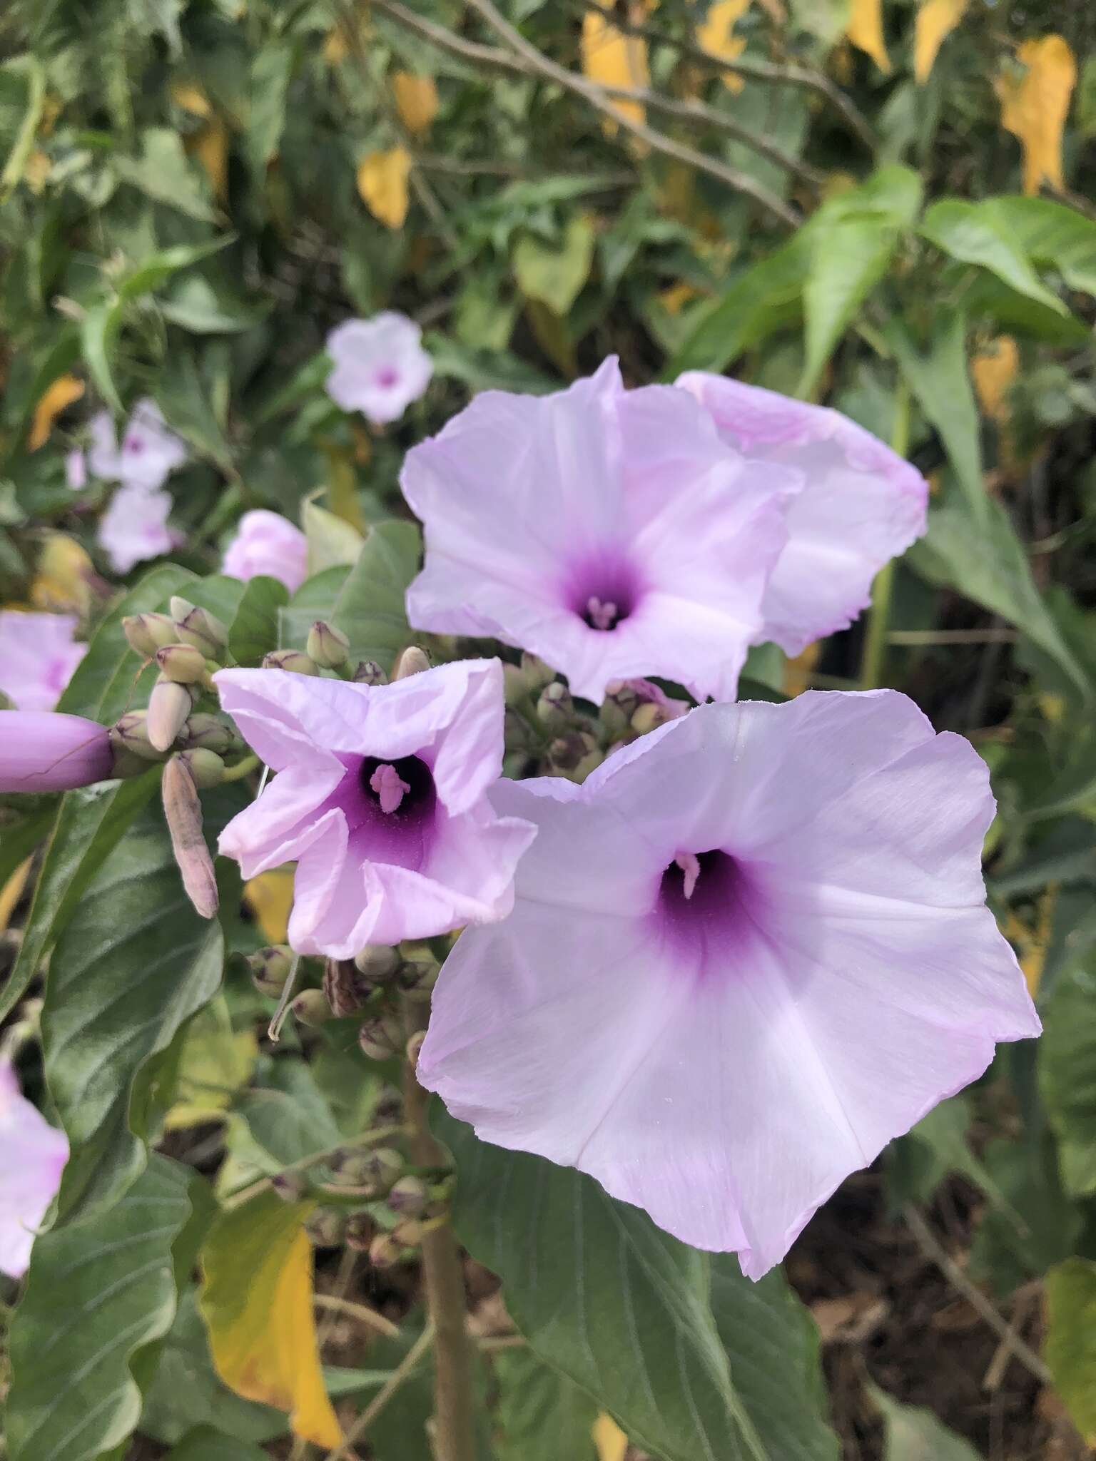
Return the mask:
<path id="1" fill-rule="evenodd" d="M 928 484 L 839 411 L 760 386 L 688 371 L 678 386 L 703 402 L 719 435 L 751 462 L 798 468 L 788 546 L 764 596 L 761 640 L 789 655 L 846 628 L 871 600 L 871 580 L 925 532 Z"/>

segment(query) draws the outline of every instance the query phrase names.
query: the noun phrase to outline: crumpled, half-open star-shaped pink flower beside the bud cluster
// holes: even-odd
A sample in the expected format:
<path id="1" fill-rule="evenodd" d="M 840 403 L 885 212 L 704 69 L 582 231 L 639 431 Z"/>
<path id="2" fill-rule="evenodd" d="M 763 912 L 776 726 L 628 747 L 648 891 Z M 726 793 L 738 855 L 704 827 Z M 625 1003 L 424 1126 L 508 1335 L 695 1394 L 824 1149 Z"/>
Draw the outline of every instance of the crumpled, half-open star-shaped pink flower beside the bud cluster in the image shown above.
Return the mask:
<path id="1" fill-rule="evenodd" d="M 504 918 L 535 830 L 498 817 L 498 660 L 440 665 L 390 685 L 222 669 L 222 707 L 278 774 L 225 827 L 246 878 L 297 863 L 289 942 L 349 958 Z"/>

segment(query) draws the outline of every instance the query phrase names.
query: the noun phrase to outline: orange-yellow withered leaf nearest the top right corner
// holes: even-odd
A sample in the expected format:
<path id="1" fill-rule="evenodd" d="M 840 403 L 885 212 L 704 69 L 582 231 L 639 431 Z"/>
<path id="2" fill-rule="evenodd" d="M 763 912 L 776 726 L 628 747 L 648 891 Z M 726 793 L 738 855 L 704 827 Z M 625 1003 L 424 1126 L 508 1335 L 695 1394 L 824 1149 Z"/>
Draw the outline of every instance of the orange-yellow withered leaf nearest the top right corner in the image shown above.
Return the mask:
<path id="1" fill-rule="evenodd" d="M 1023 76 L 998 76 L 1001 126 L 1020 139 L 1024 153 L 1024 193 L 1040 183 L 1062 188 L 1062 129 L 1077 82 L 1077 63 L 1061 35 L 1024 41 L 1016 58 Z"/>

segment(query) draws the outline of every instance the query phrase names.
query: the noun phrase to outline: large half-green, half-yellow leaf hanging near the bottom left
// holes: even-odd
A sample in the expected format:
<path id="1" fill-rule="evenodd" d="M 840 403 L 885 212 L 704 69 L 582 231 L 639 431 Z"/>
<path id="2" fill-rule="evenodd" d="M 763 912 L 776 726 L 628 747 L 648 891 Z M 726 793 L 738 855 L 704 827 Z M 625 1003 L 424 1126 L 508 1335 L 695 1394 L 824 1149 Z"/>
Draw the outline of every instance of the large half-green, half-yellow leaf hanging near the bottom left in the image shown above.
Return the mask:
<path id="1" fill-rule="evenodd" d="M 313 1318 L 314 1202 L 260 1192 L 222 1213 L 202 1251 L 199 1306 L 221 1379 L 246 1400 L 289 1413 L 294 1435 L 338 1446 L 342 1430 L 323 1388 Z"/>

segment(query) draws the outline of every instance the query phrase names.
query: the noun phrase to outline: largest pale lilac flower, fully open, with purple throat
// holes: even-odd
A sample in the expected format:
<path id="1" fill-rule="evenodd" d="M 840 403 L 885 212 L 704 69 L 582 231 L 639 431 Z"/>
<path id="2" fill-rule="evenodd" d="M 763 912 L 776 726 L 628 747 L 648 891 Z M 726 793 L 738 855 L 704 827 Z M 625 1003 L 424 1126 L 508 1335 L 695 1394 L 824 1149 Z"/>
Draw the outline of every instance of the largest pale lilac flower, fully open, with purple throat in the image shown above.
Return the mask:
<path id="1" fill-rule="evenodd" d="M 983 901 L 986 767 L 894 691 L 700 706 L 491 801 L 538 836 L 441 970 L 418 1078 L 751 1278 L 1039 1033 Z"/>

